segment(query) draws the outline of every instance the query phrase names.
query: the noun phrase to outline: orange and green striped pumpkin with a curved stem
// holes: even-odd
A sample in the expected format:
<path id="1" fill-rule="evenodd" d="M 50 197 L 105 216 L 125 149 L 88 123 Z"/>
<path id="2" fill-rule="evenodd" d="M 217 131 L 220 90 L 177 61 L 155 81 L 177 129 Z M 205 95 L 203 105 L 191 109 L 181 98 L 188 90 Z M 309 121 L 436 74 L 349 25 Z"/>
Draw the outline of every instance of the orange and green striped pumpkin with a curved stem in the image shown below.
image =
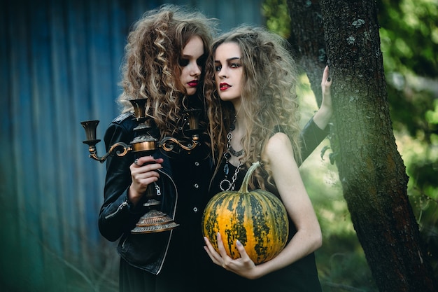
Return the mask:
<path id="1" fill-rule="evenodd" d="M 211 198 L 202 217 L 202 230 L 218 251 L 220 233 L 231 258 L 240 258 L 236 240 L 245 247 L 254 263 L 264 263 L 280 253 L 289 232 L 288 214 L 281 200 L 267 190 L 248 192 L 248 182 L 255 168 L 248 169 L 239 191 L 225 190 Z"/>

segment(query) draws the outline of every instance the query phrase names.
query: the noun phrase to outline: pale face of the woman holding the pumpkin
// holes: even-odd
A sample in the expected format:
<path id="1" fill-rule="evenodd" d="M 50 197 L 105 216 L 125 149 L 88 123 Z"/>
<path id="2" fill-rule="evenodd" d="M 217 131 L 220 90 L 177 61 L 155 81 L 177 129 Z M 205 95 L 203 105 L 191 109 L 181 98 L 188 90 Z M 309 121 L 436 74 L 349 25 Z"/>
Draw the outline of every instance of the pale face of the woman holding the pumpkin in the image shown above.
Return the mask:
<path id="1" fill-rule="evenodd" d="M 215 80 L 220 99 L 240 103 L 243 67 L 237 43 L 222 43 L 214 54 Z"/>

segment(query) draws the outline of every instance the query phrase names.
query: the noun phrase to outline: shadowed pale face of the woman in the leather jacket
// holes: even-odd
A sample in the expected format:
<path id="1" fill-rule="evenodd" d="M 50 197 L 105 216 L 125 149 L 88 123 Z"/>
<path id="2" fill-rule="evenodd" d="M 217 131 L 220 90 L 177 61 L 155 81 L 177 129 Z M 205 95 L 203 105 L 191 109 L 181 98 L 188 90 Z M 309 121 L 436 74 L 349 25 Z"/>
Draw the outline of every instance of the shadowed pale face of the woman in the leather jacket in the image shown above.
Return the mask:
<path id="1" fill-rule="evenodd" d="M 182 67 L 181 84 L 187 95 L 195 95 L 204 67 L 204 43 L 199 36 L 193 36 L 185 45 L 179 62 Z"/>

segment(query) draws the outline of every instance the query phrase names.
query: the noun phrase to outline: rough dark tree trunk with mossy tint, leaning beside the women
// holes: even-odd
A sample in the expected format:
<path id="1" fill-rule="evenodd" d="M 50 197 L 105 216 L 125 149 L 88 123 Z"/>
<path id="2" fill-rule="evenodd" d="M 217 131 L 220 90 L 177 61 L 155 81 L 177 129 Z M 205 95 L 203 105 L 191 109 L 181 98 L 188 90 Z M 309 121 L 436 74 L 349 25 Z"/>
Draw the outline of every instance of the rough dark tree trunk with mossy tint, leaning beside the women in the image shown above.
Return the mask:
<path id="1" fill-rule="evenodd" d="M 409 204 L 408 177 L 395 144 L 376 3 L 317 2 L 288 0 L 292 32 L 303 55 L 302 64 L 311 64 L 323 52 L 321 40 L 315 39 L 321 36 L 321 30 L 314 24 L 318 20 L 323 23 L 334 79 L 332 148 L 351 221 L 376 285 L 381 292 L 438 291 Z M 320 68 L 311 69 L 315 70 Z"/>

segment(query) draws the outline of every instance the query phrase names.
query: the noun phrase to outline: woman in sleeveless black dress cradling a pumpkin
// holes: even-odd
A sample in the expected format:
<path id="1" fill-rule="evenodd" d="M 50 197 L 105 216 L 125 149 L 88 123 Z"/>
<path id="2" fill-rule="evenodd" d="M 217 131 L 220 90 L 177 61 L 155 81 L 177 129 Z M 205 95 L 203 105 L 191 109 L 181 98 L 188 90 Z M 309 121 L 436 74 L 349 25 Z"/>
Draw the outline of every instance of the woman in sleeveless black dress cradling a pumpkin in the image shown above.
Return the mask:
<path id="1" fill-rule="evenodd" d="M 218 235 L 219 252 L 206 240 L 218 279 L 235 291 L 320 291 L 313 251 L 322 244 L 318 219 L 299 174 L 301 162 L 297 72 L 280 36 L 262 28 L 239 27 L 213 42 L 215 91 L 222 102 L 222 160 L 211 193 L 239 190 L 253 162 L 262 167 L 253 188 L 276 194 L 288 211 L 290 238 L 281 253 L 255 265 L 237 241 L 241 258 L 233 260 Z M 207 72 L 209 74 L 209 72 Z M 331 81 L 323 75 L 327 97 Z M 220 127 L 220 125 L 218 125 Z"/>

